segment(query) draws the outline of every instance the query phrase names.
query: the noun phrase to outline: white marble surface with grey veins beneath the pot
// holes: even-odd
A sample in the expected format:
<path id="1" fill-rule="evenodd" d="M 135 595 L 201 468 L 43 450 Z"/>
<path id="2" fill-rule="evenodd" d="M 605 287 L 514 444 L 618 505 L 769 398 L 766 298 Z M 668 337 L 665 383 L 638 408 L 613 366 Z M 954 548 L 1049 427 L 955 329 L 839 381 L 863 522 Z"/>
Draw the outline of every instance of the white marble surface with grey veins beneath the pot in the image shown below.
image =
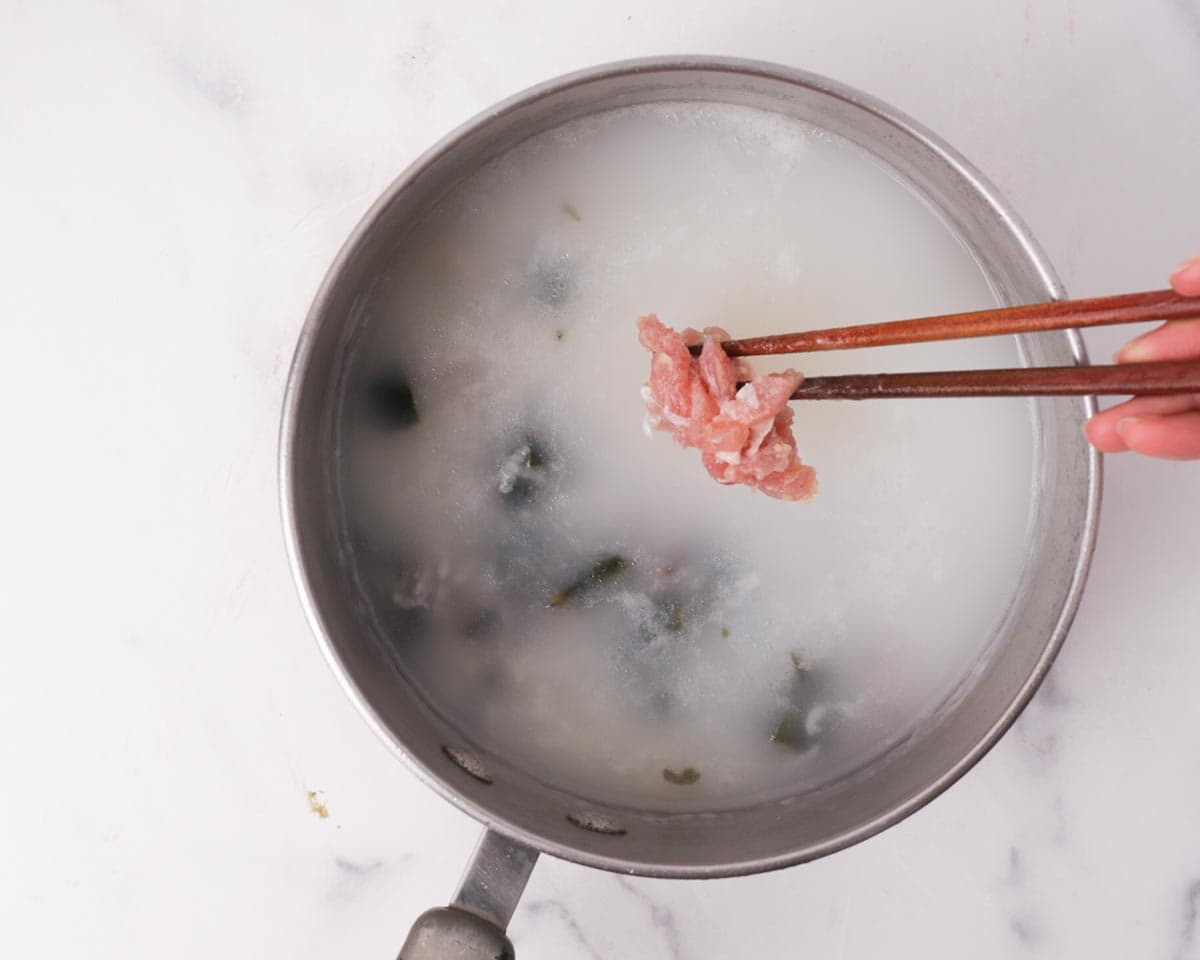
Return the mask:
<path id="1" fill-rule="evenodd" d="M 360 721 L 289 580 L 288 358 L 422 148 L 536 80 L 688 52 L 912 113 L 1074 294 L 1200 247 L 1196 0 L 0 2 L 8 954 L 390 958 L 445 900 L 476 827 Z M 1067 648 L 960 784 L 767 876 L 544 858 L 521 956 L 1200 958 L 1200 464 L 1106 467 Z"/>

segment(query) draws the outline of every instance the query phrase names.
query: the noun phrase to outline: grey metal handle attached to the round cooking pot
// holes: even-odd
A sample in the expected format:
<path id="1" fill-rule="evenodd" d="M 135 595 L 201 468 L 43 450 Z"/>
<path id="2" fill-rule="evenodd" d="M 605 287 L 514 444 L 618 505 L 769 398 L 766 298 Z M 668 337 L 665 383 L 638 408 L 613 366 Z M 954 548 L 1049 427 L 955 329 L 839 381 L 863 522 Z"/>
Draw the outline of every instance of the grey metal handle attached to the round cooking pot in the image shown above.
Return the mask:
<path id="1" fill-rule="evenodd" d="M 533 847 L 484 830 L 450 906 L 416 918 L 397 960 L 515 960 L 504 930 L 535 863 Z"/>

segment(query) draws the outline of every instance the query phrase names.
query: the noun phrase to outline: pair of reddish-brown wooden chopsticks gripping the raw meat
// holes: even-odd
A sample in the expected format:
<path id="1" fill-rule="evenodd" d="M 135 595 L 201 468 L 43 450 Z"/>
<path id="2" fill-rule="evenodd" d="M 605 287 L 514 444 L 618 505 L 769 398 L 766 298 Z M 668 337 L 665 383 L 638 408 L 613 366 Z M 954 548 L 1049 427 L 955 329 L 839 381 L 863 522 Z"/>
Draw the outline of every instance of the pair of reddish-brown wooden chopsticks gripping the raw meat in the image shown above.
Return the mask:
<path id="1" fill-rule="evenodd" d="M 936 340 L 1004 334 L 1037 334 L 1084 326 L 1147 320 L 1200 319 L 1200 298 L 1174 290 L 1148 290 L 1088 300 L 1056 300 L 1000 310 L 918 317 L 725 341 L 730 356 L 890 347 Z M 700 352 L 700 344 L 691 347 Z M 868 400 L 886 397 L 1015 397 L 1100 394 L 1200 394 L 1200 362 L 1117 364 L 1111 366 L 954 370 L 935 373 L 870 373 L 809 377 L 792 400 Z"/>

